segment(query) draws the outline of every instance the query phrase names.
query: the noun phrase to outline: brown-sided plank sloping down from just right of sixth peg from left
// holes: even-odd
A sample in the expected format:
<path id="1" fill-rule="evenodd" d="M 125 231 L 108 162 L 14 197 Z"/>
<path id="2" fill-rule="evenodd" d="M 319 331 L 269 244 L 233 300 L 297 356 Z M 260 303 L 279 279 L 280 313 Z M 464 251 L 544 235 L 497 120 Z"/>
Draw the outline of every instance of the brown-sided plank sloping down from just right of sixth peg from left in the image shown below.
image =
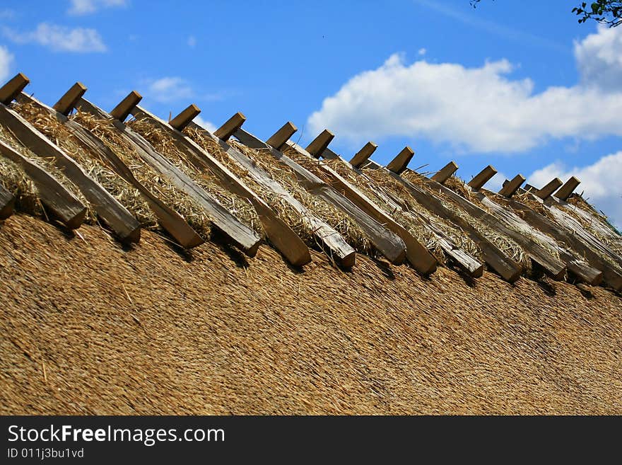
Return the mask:
<path id="1" fill-rule="evenodd" d="M 309 156 L 311 154 L 302 147 L 288 142 L 290 147 L 293 147 L 301 156 Z M 382 209 L 377 207 L 365 194 L 361 193 L 356 187 L 348 183 L 347 180 L 339 176 L 336 171 L 327 166 L 325 163 L 318 163 L 318 168 L 329 176 L 331 180 L 331 186 L 335 190 L 344 194 L 348 200 L 351 200 L 356 206 L 363 210 L 369 217 L 372 217 L 380 224 L 384 224 L 387 229 L 397 234 L 402 241 L 406 244 L 406 258 L 413 267 L 423 275 L 429 275 L 435 272 L 437 261 L 436 258 L 428 251 L 427 248 L 421 245 L 419 241 L 409 231 L 396 222 L 392 217 L 386 214 Z"/>

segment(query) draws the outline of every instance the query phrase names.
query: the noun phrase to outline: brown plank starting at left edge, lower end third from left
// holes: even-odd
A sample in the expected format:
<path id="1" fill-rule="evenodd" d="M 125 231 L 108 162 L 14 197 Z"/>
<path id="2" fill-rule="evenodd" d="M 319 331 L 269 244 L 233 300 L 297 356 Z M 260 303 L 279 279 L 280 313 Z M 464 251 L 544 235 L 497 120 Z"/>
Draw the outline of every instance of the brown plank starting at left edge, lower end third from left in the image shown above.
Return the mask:
<path id="1" fill-rule="evenodd" d="M 97 181 L 88 176 L 74 159 L 49 142 L 33 125 L 3 104 L 0 104 L 0 124 L 11 130 L 33 154 L 54 160 L 54 164 L 80 189 L 98 216 L 115 231 L 121 241 L 140 240 L 141 226 L 136 218 Z"/>

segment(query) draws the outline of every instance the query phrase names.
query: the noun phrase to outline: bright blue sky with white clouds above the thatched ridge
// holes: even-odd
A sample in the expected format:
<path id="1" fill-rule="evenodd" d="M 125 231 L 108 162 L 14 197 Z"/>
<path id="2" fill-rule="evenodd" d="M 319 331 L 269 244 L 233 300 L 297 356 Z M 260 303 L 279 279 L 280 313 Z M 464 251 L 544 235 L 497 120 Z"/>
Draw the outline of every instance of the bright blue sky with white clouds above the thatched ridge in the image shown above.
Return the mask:
<path id="1" fill-rule="evenodd" d="M 57 101 L 75 81 L 110 110 L 129 91 L 161 117 L 236 111 L 266 139 L 286 120 L 327 127 L 346 158 L 488 163 L 536 185 L 582 179 L 622 224 L 622 27 L 577 24 L 573 1 L 4 1 L 0 77 Z M 618 30 L 619 29 L 619 30 Z M 298 137 L 298 136 L 297 136 Z M 491 187 L 503 180 L 498 176 Z"/>

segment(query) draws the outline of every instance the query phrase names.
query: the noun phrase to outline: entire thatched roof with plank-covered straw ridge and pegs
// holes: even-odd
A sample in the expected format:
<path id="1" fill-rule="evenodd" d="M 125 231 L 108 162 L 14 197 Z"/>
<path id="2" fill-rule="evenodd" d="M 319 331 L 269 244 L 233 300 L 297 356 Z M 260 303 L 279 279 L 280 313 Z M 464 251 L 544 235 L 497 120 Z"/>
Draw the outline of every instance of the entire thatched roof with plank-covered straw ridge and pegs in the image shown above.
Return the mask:
<path id="1" fill-rule="evenodd" d="M 579 180 L 493 193 L 492 166 L 26 84 L 0 88 L 0 413 L 621 413 L 622 236 Z"/>

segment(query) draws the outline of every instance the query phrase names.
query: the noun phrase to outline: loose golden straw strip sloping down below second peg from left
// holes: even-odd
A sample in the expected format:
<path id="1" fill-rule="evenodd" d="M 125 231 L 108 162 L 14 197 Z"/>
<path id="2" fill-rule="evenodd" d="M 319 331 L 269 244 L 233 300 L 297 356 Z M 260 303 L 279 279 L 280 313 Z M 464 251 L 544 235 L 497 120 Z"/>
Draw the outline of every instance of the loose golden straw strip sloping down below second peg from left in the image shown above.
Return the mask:
<path id="1" fill-rule="evenodd" d="M 112 120 L 101 120 L 90 113 L 81 111 L 72 115 L 71 118 L 101 139 L 128 166 L 142 185 L 181 214 L 194 231 L 204 238 L 211 235 L 211 219 L 203 207 L 143 161 L 136 149 L 119 135 L 112 125 Z"/>

